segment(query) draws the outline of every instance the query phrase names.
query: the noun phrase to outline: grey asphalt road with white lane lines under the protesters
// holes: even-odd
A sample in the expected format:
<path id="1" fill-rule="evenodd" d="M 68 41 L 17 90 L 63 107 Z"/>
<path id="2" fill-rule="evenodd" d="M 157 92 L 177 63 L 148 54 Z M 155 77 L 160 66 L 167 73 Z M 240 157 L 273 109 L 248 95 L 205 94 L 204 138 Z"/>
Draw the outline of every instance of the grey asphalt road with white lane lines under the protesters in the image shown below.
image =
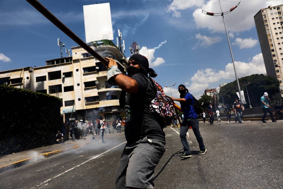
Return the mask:
<path id="1" fill-rule="evenodd" d="M 174 129 L 164 129 L 166 151 L 155 169 L 155 188 L 283 188 L 283 121 L 200 122 L 208 151 L 197 155 L 198 143 L 189 129 L 193 156 L 188 159 L 179 157 L 182 145 L 179 129 Z M 108 134 L 105 141 L 3 172 L 0 188 L 115 188 L 125 138 Z"/>

